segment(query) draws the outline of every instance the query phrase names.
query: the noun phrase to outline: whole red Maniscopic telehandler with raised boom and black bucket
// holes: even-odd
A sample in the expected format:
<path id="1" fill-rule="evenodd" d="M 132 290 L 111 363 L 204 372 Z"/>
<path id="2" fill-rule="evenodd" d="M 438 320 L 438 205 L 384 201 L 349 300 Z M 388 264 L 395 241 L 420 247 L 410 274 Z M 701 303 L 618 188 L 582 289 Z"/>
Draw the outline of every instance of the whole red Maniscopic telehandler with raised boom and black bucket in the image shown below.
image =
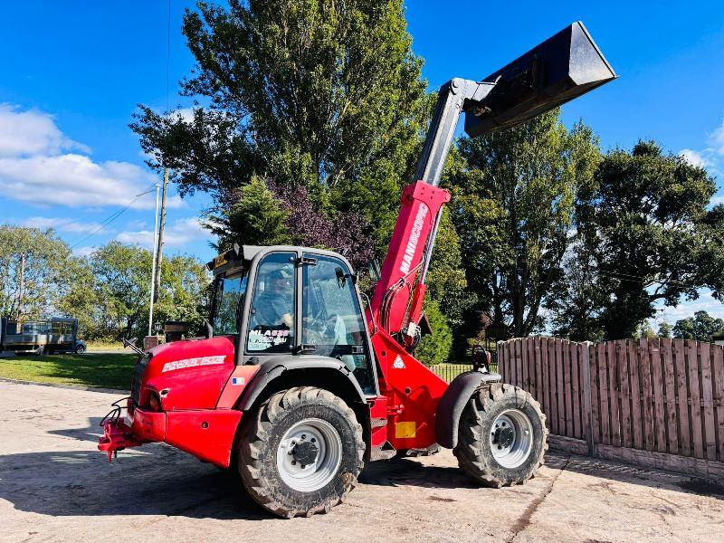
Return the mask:
<path id="1" fill-rule="evenodd" d="M 438 185 L 463 112 L 476 137 L 615 77 L 575 23 L 480 82 L 445 83 L 367 309 L 336 252 L 235 245 L 209 263 L 215 294 L 205 338 L 138 349 L 131 395 L 101 423 L 99 449 L 110 459 L 169 443 L 238 471 L 254 500 L 288 518 L 329 511 L 366 462 L 440 446 L 481 484 L 533 477 L 548 448 L 538 402 L 485 365 L 448 385 L 414 357 L 425 275 L 450 200 Z"/>

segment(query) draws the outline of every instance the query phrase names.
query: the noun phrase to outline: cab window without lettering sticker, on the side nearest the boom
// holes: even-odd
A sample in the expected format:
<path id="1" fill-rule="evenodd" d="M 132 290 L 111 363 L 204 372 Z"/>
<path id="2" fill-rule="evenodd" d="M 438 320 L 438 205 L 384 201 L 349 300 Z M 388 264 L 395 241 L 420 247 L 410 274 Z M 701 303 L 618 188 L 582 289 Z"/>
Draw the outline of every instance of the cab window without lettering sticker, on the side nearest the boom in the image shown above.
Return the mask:
<path id="1" fill-rule="evenodd" d="M 375 394 L 362 310 L 347 265 L 337 258 L 305 253 L 316 263 L 302 275 L 302 344 L 314 353 L 341 360 L 366 394 Z"/>

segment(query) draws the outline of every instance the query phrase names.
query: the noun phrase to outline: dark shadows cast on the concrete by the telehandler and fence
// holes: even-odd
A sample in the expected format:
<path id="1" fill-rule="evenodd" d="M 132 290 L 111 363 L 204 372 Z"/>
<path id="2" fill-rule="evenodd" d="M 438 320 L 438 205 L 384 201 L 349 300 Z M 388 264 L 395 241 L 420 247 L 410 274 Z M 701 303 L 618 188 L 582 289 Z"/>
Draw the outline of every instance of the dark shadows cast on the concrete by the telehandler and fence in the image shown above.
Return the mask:
<path id="1" fill-rule="evenodd" d="M 17 510 L 56 516 L 271 518 L 243 491 L 235 477 L 165 444 L 120 452 L 118 461 L 108 463 L 94 446 L 100 434 L 99 421 L 91 419 L 87 428 L 52 432 L 88 443 L 87 450 L 1 456 L 0 499 L 9 501 Z M 724 485 L 720 483 L 616 462 L 551 452 L 547 468 L 540 477 L 550 477 L 550 470 L 565 470 L 724 500 Z M 360 476 L 360 483 L 446 489 L 478 486 L 457 468 L 425 465 L 411 459 L 373 462 Z"/>

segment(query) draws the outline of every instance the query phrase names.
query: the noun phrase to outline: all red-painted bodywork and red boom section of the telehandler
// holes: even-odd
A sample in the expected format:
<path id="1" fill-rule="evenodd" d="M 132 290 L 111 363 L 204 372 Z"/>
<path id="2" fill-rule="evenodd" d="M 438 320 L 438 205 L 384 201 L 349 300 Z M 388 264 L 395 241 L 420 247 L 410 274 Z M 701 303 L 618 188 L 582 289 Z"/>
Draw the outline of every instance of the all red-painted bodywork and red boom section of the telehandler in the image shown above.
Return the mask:
<path id="1" fill-rule="evenodd" d="M 447 384 L 391 334 L 420 319 L 425 287 L 417 276 L 424 246 L 449 200 L 446 191 L 422 181 L 406 187 L 402 196 L 382 279 L 367 311 L 381 372 L 381 395 L 368 401 L 372 446 L 389 441 L 397 449 L 414 449 L 435 443 L 435 409 Z M 206 462 L 228 467 L 242 418 L 238 400 L 259 367 L 235 366 L 231 337 L 177 341 L 150 352 L 153 357 L 142 376 L 139 405 L 129 406 L 130 424 L 107 422 L 99 448 L 111 453 L 165 441 Z M 153 393 L 159 395 L 160 413 L 148 410 Z"/>

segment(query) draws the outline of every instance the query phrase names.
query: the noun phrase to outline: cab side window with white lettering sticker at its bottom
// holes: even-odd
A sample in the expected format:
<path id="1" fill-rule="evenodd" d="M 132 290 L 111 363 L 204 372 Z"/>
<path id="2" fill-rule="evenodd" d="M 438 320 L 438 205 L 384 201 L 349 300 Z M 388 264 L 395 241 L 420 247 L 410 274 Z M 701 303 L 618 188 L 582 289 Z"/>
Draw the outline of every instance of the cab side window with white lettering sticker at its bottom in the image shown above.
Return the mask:
<path id="1" fill-rule="evenodd" d="M 271 252 L 259 264 L 254 284 L 246 350 L 285 353 L 294 345 L 296 257 Z"/>

